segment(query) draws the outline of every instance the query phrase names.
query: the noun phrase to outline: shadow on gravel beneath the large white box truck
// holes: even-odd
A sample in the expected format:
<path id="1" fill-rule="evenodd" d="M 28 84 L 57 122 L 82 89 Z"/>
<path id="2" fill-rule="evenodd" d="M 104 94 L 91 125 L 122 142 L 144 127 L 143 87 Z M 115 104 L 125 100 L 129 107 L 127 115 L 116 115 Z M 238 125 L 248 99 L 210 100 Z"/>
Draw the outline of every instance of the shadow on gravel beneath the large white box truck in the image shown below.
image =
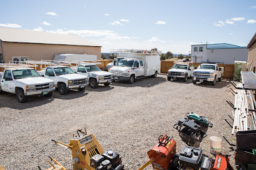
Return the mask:
<path id="1" fill-rule="evenodd" d="M 149 88 L 152 86 L 156 86 L 157 84 L 163 83 L 166 81 L 166 78 L 157 77 L 157 78 L 144 78 L 136 80 L 134 84 L 129 84 L 125 81 L 115 81 L 112 83 L 112 86 L 121 86 L 125 88 L 132 88 L 132 87 L 142 87 L 142 88 Z"/>

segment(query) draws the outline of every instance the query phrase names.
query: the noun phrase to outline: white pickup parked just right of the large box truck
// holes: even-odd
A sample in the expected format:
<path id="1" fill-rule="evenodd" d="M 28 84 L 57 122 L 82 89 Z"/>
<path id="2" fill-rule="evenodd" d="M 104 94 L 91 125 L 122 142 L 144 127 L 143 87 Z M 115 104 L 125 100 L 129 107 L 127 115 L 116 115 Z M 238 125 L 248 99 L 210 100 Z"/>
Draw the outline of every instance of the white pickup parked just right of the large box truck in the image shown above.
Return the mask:
<path id="1" fill-rule="evenodd" d="M 183 79 L 186 82 L 188 78 L 192 78 L 194 69 L 190 68 L 189 64 L 174 64 L 173 68 L 168 70 L 167 79 Z"/>

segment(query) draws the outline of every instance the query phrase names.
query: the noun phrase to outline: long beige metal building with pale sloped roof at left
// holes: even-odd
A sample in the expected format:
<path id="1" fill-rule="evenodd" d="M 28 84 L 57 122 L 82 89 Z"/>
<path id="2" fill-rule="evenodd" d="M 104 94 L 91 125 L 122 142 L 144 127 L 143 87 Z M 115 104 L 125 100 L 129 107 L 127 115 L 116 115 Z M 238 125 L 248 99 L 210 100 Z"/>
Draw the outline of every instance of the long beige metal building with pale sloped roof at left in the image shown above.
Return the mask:
<path id="1" fill-rule="evenodd" d="M 9 63 L 16 56 L 53 60 L 55 54 L 91 54 L 100 59 L 101 46 L 71 34 L 0 27 L 0 63 Z"/>

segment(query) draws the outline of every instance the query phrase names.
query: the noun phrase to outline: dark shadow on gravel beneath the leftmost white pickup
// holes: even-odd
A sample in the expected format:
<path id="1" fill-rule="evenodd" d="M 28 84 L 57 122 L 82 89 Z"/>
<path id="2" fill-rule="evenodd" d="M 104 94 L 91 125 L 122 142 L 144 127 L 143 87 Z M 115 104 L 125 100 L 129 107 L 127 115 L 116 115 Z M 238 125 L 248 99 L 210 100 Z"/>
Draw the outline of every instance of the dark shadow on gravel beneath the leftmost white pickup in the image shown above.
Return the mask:
<path id="1" fill-rule="evenodd" d="M 55 94 L 51 98 L 45 98 L 44 96 L 30 96 L 26 103 L 19 103 L 16 99 L 15 94 L 7 93 L 1 91 L 0 93 L 0 108 L 11 108 L 11 109 L 28 109 L 37 106 L 42 106 L 44 104 L 51 103 L 55 98 Z"/>

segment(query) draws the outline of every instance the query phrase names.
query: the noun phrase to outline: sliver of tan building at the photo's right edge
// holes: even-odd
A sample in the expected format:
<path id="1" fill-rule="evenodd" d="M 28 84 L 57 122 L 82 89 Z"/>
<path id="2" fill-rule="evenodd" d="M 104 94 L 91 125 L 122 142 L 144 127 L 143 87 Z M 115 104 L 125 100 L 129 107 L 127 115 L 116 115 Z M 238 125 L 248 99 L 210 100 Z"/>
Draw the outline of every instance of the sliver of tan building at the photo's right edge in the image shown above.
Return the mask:
<path id="1" fill-rule="evenodd" d="M 254 73 L 256 73 L 256 33 L 252 37 L 247 48 L 249 49 L 248 64 L 250 64 L 252 62 L 252 66 L 250 66 L 250 65 L 249 66 L 250 66 L 250 68 L 252 68 L 252 71 Z M 248 69 L 250 69 L 250 68 L 248 68 Z"/>

